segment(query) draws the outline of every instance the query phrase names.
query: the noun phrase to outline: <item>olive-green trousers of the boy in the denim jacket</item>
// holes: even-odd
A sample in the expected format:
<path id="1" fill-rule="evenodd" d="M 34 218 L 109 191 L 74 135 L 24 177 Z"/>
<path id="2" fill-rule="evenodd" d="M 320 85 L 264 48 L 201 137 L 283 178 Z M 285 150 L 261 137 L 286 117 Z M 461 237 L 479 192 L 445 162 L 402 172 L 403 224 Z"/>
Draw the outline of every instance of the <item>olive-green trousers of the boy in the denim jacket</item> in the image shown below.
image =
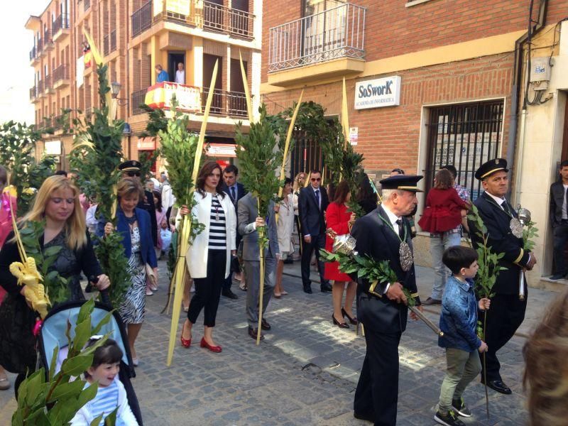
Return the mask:
<path id="1" fill-rule="evenodd" d="M 447 370 L 436 410 L 447 414 L 452 409 L 452 400 L 461 398 L 466 386 L 481 373 L 481 361 L 477 351 L 466 352 L 461 349 L 446 349 Z"/>

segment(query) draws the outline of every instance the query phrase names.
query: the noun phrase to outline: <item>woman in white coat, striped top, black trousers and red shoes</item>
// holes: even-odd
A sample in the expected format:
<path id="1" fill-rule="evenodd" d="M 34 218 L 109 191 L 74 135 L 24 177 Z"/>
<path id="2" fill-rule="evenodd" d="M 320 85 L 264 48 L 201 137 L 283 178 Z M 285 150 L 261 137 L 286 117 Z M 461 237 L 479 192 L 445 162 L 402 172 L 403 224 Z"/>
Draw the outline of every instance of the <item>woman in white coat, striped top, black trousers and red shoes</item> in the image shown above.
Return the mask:
<path id="1" fill-rule="evenodd" d="M 221 346 L 213 340 L 213 327 L 219 307 L 224 279 L 229 276 L 231 255 L 236 252 L 236 215 L 229 196 L 222 188 L 221 167 L 214 161 L 205 163 L 197 176 L 194 198 L 197 204 L 192 215 L 205 229 L 195 237 L 185 253 L 185 261 L 195 283 L 195 294 L 183 324 L 181 343 L 189 348 L 192 327 L 201 310 L 204 310 L 204 336 L 200 346 L 220 352 Z M 180 214 L 189 213 L 182 206 Z"/>

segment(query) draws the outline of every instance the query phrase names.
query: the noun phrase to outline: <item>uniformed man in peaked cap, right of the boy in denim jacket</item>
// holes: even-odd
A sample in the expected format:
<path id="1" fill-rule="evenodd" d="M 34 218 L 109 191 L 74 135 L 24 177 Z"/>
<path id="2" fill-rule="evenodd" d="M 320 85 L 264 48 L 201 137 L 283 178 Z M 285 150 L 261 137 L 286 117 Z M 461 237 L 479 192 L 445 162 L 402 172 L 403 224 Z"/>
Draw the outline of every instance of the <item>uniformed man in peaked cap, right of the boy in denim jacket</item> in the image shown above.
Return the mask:
<path id="1" fill-rule="evenodd" d="M 487 386 L 493 390 L 511 393 L 510 388 L 503 383 L 499 369 L 501 364 L 496 352 L 509 341 L 525 318 L 527 307 L 527 290 L 525 285 L 524 300 L 519 298 L 519 273 L 531 270 L 537 259 L 533 253 L 523 249 L 523 239 L 513 235 L 514 226 L 511 219 L 517 217 L 513 206 L 505 199 L 509 182 L 507 175 L 507 161 L 503 158 L 489 160 L 476 170 L 476 179 L 481 180 L 484 192 L 475 200 L 474 204 L 479 210 L 487 228 L 488 243 L 493 253 L 503 253 L 499 265 L 504 269 L 497 276 L 493 285 L 491 309 L 487 311 L 485 342 L 488 346 L 486 352 L 486 380 Z M 477 235 L 478 230 L 474 222 L 468 221 L 471 229 L 471 242 L 474 248 L 481 246 L 483 241 Z M 484 373 L 481 373 L 484 381 Z"/>

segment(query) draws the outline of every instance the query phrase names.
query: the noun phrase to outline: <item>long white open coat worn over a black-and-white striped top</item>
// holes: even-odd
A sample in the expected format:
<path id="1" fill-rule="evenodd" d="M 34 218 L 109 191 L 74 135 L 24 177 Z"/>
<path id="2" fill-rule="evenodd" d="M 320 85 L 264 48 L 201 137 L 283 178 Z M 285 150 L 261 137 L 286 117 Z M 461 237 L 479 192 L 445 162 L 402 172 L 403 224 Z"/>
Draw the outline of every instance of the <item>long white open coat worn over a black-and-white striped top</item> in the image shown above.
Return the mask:
<path id="1" fill-rule="evenodd" d="M 229 195 L 219 195 L 219 202 L 225 212 L 226 226 L 226 265 L 225 278 L 229 276 L 231 271 L 231 250 L 236 250 L 236 214 L 235 208 Z M 205 278 L 207 276 L 207 254 L 209 252 L 209 223 L 211 221 L 211 203 L 212 195 L 205 192 L 203 197 L 199 192 L 195 191 L 193 197 L 197 204 L 192 209 L 192 214 L 205 225 L 205 229 L 201 234 L 195 237 L 190 248 L 185 253 L 185 262 L 190 271 L 191 278 Z"/>

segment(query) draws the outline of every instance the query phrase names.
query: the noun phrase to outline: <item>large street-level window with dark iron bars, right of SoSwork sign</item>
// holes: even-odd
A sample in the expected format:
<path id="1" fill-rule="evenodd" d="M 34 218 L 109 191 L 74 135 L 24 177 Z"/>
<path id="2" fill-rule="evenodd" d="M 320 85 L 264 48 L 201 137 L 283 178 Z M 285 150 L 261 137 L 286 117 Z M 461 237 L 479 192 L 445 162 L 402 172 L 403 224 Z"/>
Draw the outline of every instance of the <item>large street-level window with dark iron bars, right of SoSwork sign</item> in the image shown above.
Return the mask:
<path id="1" fill-rule="evenodd" d="M 503 100 L 444 105 L 430 109 L 426 189 L 442 165 L 453 164 L 457 183 L 469 190 L 471 200 L 481 194 L 474 178 L 479 166 L 496 158 L 503 128 Z"/>

